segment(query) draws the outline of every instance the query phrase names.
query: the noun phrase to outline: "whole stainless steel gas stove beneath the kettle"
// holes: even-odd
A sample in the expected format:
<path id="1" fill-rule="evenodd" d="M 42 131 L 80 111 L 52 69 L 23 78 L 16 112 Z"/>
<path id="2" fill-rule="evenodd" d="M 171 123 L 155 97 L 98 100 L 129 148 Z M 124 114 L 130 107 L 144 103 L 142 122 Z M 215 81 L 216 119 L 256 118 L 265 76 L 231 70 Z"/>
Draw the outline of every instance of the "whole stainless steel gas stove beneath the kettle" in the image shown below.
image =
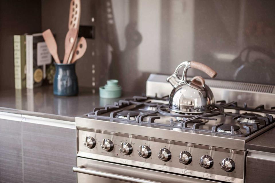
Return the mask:
<path id="1" fill-rule="evenodd" d="M 184 114 L 168 108 L 169 87 L 157 78 L 161 82 L 152 83 L 158 86 L 147 83 L 155 89 L 147 97 L 76 118 L 78 182 L 92 182 L 92 175 L 126 182 L 245 182 L 245 143 L 274 127 L 274 107 L 262 105 L 274 94 L 229 88 L 221 100 L 221 88 L 210 83 L 214 95 L 219 92 L 215 110 Z M 247 95 L 265 97 L 251 106 L 240 97 Z"/>

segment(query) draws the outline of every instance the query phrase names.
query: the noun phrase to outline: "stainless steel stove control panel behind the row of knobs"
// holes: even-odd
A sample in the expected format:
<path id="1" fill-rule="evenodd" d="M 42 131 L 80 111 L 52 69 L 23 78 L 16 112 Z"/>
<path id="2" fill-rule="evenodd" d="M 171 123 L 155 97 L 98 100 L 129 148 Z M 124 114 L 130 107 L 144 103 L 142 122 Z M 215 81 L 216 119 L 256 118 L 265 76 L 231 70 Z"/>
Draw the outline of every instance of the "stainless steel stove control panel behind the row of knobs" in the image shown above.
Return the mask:
<path id="1" fill-rule="evenodd" d="M 89 137 L 94 139 L 91 148 L 87 147 L 87 142 L 91 142 L 91 138 Z M 87 139 L 89 140 L 87 141 Z M 103 139 L 105 139 L 105 142 L 107 142 L 108 139 L 109 144 L 111 142 L 113 143 L 112 148 L 110 148 L 112 149 L 111 151 L 102 149 Z M 205 179 L 236 183 L 243 182 L 245 151 L 189 144 L 184 142 L 184 139 L 181 141 L 182 142 L 175 142 L 144 136 L 133 136 L 131 134 L 79 128 L 77 156 Z M 96 143 L 95 145 L 94 142 Z M 129 155 L 125 155 L 120 152 L 121 143 L 131 145 L 131 154 L 128 152 Z M 108 147 L 110 147 L 109 144 L 107 144 Z M 138 155 L 140 146 L 148 146 L 150 148 L 151 156 L 149 158 L 143 158 Z M 167 160 L 163 161 L 159 159 L 160 149 L 162 149 L 164 160 L 168 157 Z M 166 154 L 166 152 L 163 151 L 164 149 L 166 152 L 170 151 L 171 155 Z M 179 162 L 180 152 L 190 153 L 192 157 L 190 164 L 182 164 Z M 213 159 L 212 167 L 203 168 L 200 165 L 201 157 L 203 156 L 205 158 L 210 157 L 210 160 L 211 158 Z M 221 168 L 222 161 L 225 158 L 229 158 L 235 163 L 235 169 L 232 172 L 226 172 Z M 209 163 L 209 159 L 203 158 L 203 160 Z"/>

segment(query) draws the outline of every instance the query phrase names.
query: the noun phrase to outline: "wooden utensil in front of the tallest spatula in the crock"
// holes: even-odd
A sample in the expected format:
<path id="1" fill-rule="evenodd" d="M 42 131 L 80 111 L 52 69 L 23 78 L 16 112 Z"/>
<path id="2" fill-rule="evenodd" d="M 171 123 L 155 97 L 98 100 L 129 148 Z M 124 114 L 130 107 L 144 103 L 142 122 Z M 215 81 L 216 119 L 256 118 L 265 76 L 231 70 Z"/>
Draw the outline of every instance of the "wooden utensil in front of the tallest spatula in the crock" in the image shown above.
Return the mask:
<path id="1" fill-rule="evenodd" d="M 65 54 L 64 54 L 64 59 L 63 59 L 64 64 L 66 64 L 68 62 L 70 53 L 74 47 L 74 43 L 77 38 L 77 34 L 78 34 L 78 29 L 76 29 L 76 28 L 71 28 L 67 32 L 67 35 L 65 38 Z"/>

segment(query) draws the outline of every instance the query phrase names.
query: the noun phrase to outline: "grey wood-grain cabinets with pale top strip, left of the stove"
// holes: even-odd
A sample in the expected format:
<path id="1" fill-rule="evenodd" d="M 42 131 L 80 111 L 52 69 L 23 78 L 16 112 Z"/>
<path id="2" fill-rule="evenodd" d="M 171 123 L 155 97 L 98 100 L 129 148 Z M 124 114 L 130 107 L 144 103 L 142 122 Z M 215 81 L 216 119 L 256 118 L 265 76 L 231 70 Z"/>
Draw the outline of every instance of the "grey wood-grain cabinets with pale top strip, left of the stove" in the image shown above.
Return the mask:
<path id="1" fill-rule="evenodd" d="M 0 112 L 0 183 L 76 182 L 74 122 Z"/>

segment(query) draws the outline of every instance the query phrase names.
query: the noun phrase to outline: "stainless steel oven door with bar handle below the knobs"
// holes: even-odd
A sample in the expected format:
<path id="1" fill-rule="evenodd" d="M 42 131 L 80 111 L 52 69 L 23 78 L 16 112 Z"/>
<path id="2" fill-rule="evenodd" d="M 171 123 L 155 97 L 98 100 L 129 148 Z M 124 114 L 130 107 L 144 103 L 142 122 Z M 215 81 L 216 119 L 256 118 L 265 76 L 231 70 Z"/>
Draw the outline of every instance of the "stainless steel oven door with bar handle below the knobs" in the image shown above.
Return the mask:
<path id="1" fill-rule="evenodd" d="M 109 162 L 91 160 L 88 158 L 77 158 L 78 183 L 213 183 L 215 181 L 204 180 L 189 176 L 170 174 L 156 170 L 148 170 L 133 166 L 125 166 Z"/>

